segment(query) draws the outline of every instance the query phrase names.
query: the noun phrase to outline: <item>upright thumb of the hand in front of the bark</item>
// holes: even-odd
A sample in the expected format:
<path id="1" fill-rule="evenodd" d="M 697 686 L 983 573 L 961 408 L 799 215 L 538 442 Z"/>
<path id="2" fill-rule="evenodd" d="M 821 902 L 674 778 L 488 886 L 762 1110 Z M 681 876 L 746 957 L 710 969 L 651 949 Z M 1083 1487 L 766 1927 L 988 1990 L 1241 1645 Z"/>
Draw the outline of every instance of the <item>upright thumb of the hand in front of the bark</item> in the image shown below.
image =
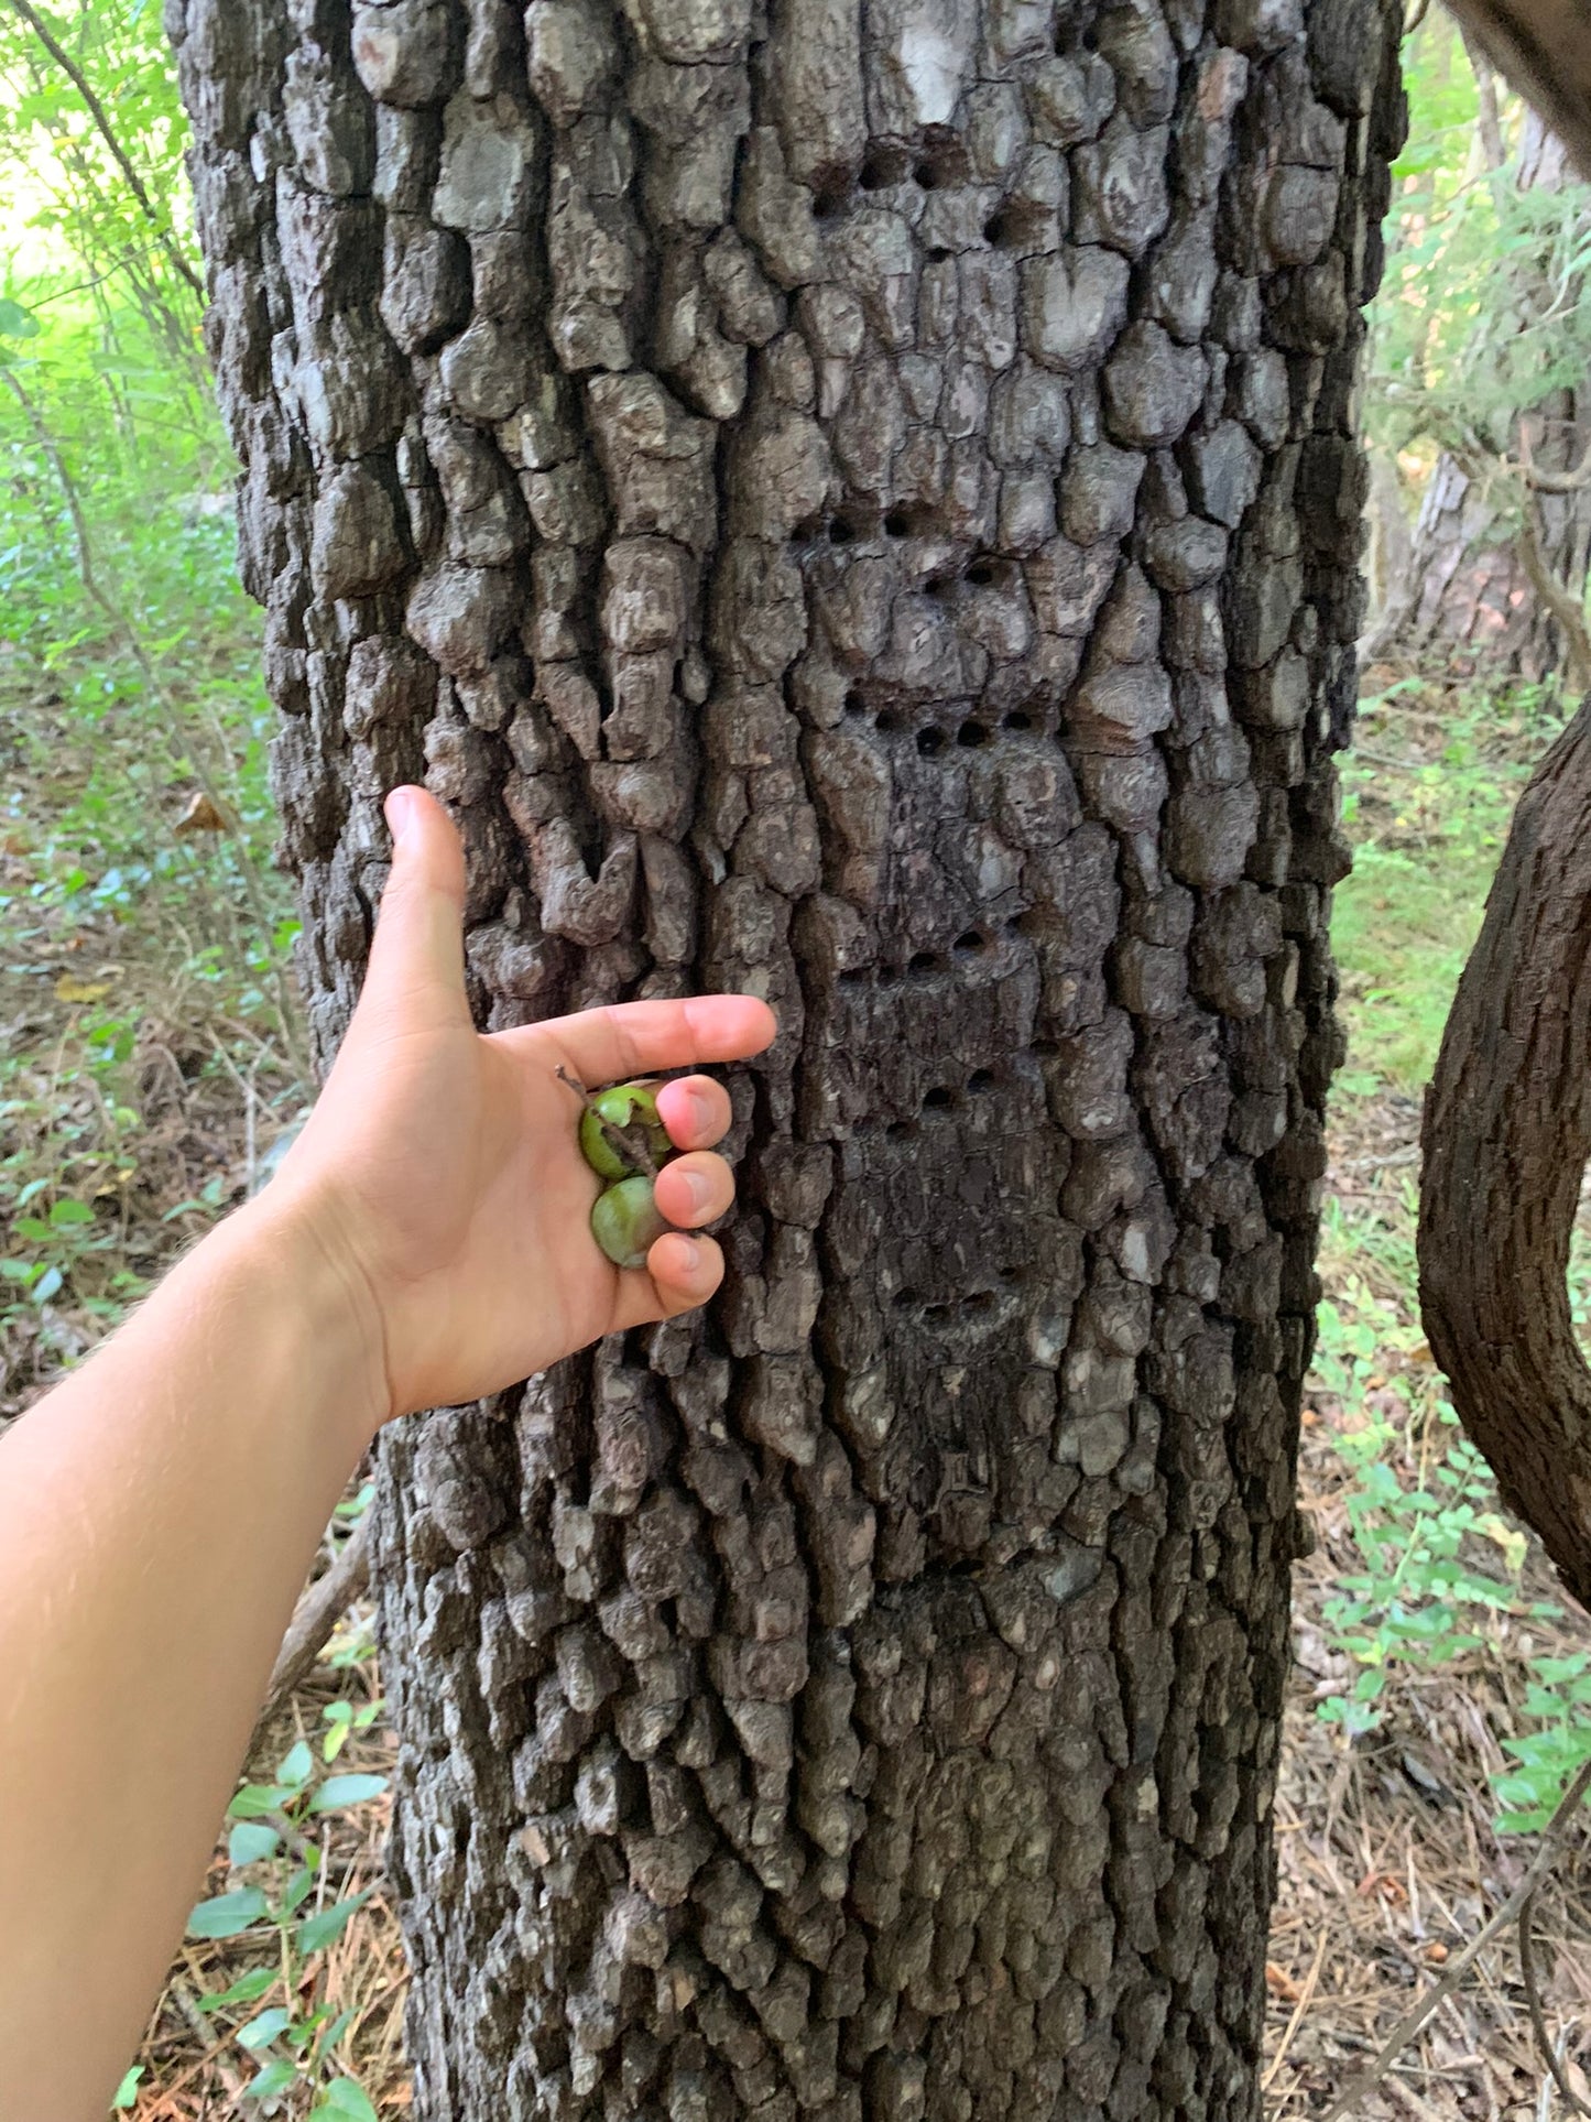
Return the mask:
<path id="1" fill-rule="evenodd" d="M 382 893 L 361 1014 L 390 1023 L 420 1010 L 431 1023 L 465 999 L 465 851 L 435 796 L 399 787 L 386 798 L 392 874 Z"/>

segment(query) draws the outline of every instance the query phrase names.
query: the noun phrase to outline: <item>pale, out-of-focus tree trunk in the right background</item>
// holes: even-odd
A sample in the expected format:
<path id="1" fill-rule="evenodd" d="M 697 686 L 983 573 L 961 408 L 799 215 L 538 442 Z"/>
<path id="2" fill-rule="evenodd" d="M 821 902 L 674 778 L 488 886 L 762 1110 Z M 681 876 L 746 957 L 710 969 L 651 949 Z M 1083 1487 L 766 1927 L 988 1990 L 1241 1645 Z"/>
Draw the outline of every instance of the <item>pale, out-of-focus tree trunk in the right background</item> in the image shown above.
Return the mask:
<path id="1" fill-rule="evenodd" d="M 1476 64 L 1485 83 L 1485 62 Z M 1485 108 L 1485 98 L 1483 98 Z M 1493 119 L 1485 132 L 1496 136 Z M 1491 168 L 1502 161 L 1500 144 L 1487 146 Z M 1568 174 L 1568 153 L 1534 115 L 1525 117 L 1515 182 L 1521 189 L 1557 191 Z M 1519 272 L 1521 320 L 1549 303 L 1561 303 L 1561 289 L 1538 289 Z M 1510 454 L 1527 446 L 1546 473 L 1574 471 L 1591 452 L 1591 388 L 1555 390 L 1523 414 L 1510 437 Z M 1443 450 L 1436 458 L 1415 520 L 1406 571 L 1387 584 L 1385 605 L 1366 639 L 1366 656 L 1394 656 L 1453 675 L 1525 677 L 1540 681 L 1574 662 L 1574 645 L 1532 581 L 1529 558 L 1519 528 L 1521 494 L 1510 492 L 1498 469 L 1487 477 Z M 1538 511 L 1540 556 L 1549 575 L 1570 598 L 1585 596 L 1591 567 L 1591 484 L 1570 492 L 1542 492 L 1523 505 Z"/>

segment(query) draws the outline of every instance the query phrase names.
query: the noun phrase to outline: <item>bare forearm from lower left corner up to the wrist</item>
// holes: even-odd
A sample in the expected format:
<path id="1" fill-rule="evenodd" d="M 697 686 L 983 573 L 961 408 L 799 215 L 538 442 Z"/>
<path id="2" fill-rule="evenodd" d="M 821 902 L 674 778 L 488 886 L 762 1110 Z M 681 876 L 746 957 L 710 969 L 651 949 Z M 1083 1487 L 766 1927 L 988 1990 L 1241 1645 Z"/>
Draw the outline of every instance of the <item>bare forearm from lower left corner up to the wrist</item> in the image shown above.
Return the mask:
<path id="1" fill-rule="evenodd" d="M 265 1197 L 0 1441 L 0 2122 L 104 2116 L 380 1377 Z"/>

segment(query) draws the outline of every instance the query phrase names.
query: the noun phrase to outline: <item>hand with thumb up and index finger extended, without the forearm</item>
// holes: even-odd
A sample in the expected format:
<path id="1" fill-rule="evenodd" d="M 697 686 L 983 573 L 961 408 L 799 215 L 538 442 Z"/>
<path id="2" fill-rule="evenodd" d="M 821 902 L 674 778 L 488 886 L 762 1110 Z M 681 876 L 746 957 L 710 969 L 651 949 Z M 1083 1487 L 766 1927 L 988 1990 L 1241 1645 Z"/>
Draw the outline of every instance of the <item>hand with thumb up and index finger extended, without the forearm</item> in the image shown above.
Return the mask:
<path id="1" fill-rule="evenodd" d="M 465 999 L 465 859 L 424 789 L 388 796 L 392 874 L 369 974 L 337 1063 L 261 1197 L 344 1277 L 371 1347 L 369 1426 L 499 1392 L 600 1335 L 704 1303 L 723 1275 L 687 1235 L 734 1199 L 711 1146 L 730 1099 L 709 1076 L 664 1084 L 658 1112 L 685 1154 L 658 1173 L 672 1224 L 645 1269 L 619 1271 L 590 1233 L 602 1182 L 579 1150 L 588 1084 L 738 1061 L 774 1038 L 749 995 L 630 1002 L 477 1033 Z"/>

